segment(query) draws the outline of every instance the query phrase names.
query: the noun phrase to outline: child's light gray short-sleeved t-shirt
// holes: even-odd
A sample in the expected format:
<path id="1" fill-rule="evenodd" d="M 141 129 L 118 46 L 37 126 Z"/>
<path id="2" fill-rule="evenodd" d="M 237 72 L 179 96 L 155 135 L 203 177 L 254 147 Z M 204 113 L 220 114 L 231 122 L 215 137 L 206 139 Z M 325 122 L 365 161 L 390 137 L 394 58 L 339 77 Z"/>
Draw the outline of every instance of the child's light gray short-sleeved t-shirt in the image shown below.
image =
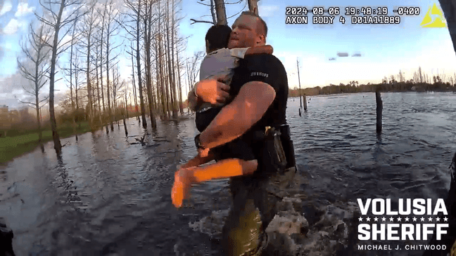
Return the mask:
<path id="1" fill-rule="evenodd" d="M 248 48 L 221 48 L 209 53 L 201 62 L 200 81 L 215 75 L 227 75 L 225 83 L 230 84 L 233 77 L 233 69 L 239 66 L 239 59 L 243 59 Z M 204 111 L 212 107 L 205 102 L 197 111 Z"/>

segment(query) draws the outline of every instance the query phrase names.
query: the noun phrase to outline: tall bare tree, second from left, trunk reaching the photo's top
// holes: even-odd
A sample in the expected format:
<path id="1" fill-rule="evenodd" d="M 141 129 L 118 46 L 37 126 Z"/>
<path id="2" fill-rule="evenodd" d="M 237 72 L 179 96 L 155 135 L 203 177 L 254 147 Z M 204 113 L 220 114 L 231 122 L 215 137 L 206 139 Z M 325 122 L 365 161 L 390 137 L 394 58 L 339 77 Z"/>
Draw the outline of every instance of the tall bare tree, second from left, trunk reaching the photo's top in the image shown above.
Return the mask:
<path id="1" fill-rule="evenodd" d="M 49 25 L 54 32 L 53 42 L 50 45 L 52 48 L 52 55 L 51 70 L 49 74 L 49 116 L 51 118 L 54 149 L 56 149 L 56 153 L 60 155 L 62 151 L 62 145 L 58 137 L 56 115 L 54 113 L 54 83 L 56 82 L 57 56 L 65 50 L 63 46 L 65 46 L 66 43 L 61 43 L 61 41 L 63 38 L 65 38 L 65 35 L 68 33 L 68 31 L 70 31 L 70 29 L 68 29 L 68 31 L 65 32 L 63 36 L 61 36 L 61 39 L 59 39 L 59 32 L 63 27 L 71 24 L 74 20 L 78 19 L 80 15 L 82 15 L 82 13 L 79 12 L 80 8 L 82 7 L 82 2 L 81 0 L 43 1 L 40 0 L 39 4 L 44 8 L 45 15 L 37 15 L 37 18 L 44 24 Z M 58 7 L 58 11 L 55 11 L 53 7 Z M 66 18 L 63 18 L 63 11 L 67 11 L 70 8 L 72 8 L 72 11 L 69 11 L 70 14 Z"/>

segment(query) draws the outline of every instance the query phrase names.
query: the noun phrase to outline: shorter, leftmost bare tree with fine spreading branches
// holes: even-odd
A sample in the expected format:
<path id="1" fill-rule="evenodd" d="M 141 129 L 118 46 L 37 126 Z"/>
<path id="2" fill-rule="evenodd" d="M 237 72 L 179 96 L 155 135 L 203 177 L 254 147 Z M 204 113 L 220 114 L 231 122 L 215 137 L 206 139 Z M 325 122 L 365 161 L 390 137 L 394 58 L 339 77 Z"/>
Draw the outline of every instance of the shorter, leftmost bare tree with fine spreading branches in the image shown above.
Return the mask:
<path id="1" fill-rule="evenodd" d="M 23 102 L 29 105 L 32 105 L 37 110 L 37 126 L 38 126 L 38 143 L 44 152 L 44 146 L 42 144 L 42 129 L 39 106 L 40 103 L 47 100 L 48 97 L 45 97 L 43 100 L 39 100 L 39 91 L 46 84 L 47 79 L 44 79 L 46 73 L 49 71 L 49 66 L 47 58 L 51 48 L 48 48 L 49 40 L 51 39 L 51 31 L 49 28 L 45 28 L 44 24 L 41 24 L 37 31 L 34 31 L 32 23 L 30 23 L 30 35 L 27 37 L 27 44 L 23 43 L 21 45 L 23 54 L 25 55 L 25 60 L 18 58 L 18 67 L 20 74 L 22 74 L 26 79 L 34 83 L 33 90 L 28 90 L 28 88 L 23 87 L 23 89 L 34 96 L 35 102 Z M 29 67 L 28 63 L 33 64 L 33 67 Z M 22 102 L 22 101 L 21 101 Z"/>

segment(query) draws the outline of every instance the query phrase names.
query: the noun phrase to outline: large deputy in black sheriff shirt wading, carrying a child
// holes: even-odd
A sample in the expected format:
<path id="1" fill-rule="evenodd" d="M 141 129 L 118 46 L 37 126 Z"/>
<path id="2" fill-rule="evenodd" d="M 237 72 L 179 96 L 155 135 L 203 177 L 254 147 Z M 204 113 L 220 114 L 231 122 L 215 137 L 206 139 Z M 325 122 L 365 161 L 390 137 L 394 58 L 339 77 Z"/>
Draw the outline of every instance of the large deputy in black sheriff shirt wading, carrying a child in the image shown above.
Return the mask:
<path id="1" fill-rule="evenodd" d="M 229 48 L 266 43 L 267 25 L 258 15 L 243 12 L 232 28 Z M 199 148 L 212 149 L 241 137 L 253 147 L 258 159 L 258 170 L 253 175 L 230 179 L 233 200 L 222 230 L 224 255 L 261 255 L 267 244 L 265 229 L 276 214 L 281 191 L 296 173 L 286 125 L 288 93 L 284 65 L 269 54 L 240 60 L 231 88 L 217 79 L 208 79 L 196 83 L 189 93 L 194 109 L 202 102 L 220 105 L 230 95 L 233 99 L 198 136 Z"/>

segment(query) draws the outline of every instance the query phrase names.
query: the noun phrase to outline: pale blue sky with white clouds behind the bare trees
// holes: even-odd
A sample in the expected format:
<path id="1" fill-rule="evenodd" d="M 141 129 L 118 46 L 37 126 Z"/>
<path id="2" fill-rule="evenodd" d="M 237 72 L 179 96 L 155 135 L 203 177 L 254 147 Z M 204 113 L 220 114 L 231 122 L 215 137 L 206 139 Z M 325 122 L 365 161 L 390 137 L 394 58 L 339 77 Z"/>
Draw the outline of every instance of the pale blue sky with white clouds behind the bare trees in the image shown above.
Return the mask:
<path id="1" fill-rule="evenodd" d="M 2 0 L 3 1 L 3 0 Z M 184 57 L 191 57 L 195 52 L 204 50 L 204 36 L 209 24 L 191 25 L 191 18 L 211 20 L 209 8 L 198 4 L 199 0 L 183 0 L 180 13 L 183 19 L 179 33 L 187 37 Z M 233 1 L 232 1 L 233 2 Z M 207 0 L 203 3 L 208 3 Z M 303 4 L 305 3 L 305 4 Z M 327 86 L 329 83 L 381 82 L 384 76 L 397 75 L 399 70 L 411 79 L 413 72 L 422 67 L 431 74 L 445 73 L 453 75 L 456 71 L 456 55 L 453 50 L 448 28 L 423 28 L 420 26 L 426 12 L 438 1 L 272 1 L 260 0 L 259 13 L 268 25 L 267 43 L 274 47 L 277 56 L 289 74 L 289 87 L 298 86 L 296 59 L 300 62 L 300 83 L 302 88 Z M 240 4 L 226 5 L 227 16 L 236 15 L 246 6 L 246 0 Z M 312 13 L 308 13 L 309 24 L 286 25 L 287 6 L 323 6 L 338 7 L 341 14 L 334 19 L 333 25 L 311 24 Z M 350 16 L 345 15 L 345 8 L 386 6 L 388 15 L 397 15 L 393 9 L 398 6 L 417 6 L 419 15 L 400 16 L 399 25 L 352 25 Z M 36 20 L 32 10 L 39 10 L 37 0 L 5 0 L 0 6 L 0 105 L 18 106 L 14 95 L 21 97 L 16 56 L 20 53 L 18 42 L 27 33 L 27 24 Z M 346 18 L 346 24 L 338 22 L 339 16 Z M 232 25 L 234 18 L 229 18 Z M 348 53 L 348 57 L 338 57 L 338 53 Z M 360 54 L 360 57 L 351 57 Z M 126 57 L 126 56 L 125 56 Z M 329 60 L 335 58 L 335 60 Z M 65 58 L 61 58 L 64 62 Z M 120 58 L 122 77 L 130 79 L 131 67 L 127 58 Z M 65 63 L 61 63 L 65 65 Z M 184 83 L 186 81 L 183 80 Z M 61 92 L 68 90 L 62 80 L 57 88 Z M 185 86 L 186 88 L 186 86 Z"/>

